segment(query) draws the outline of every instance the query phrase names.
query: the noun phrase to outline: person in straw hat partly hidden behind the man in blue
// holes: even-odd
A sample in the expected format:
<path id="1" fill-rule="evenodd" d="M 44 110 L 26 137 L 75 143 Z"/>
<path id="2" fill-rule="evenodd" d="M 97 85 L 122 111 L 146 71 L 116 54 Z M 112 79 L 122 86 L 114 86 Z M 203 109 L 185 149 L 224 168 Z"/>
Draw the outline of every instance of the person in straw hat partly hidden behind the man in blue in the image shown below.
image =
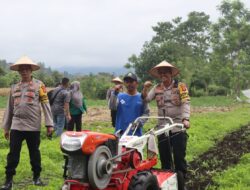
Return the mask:
<path id="1" fill-rule="evenodd" d="M 112 126 L 115 127 L 115 120 L 116 120 L 116 107 L 112 107 L 110 104 L 110 96 L 111 93 L 115 91 L 115 87 L 118 88 L 119 92 L 122 92 L 123 90 L 123 81 L 119 77 L 115 77 L 111 80 L 112 83 L 114 83 L 114 86 L 109 88 L 107 91 L 106 95 L 106 100 L 108 101 L 108 107 L 110 109 L 110 114 L 111 114 L 111 121 L 112 121 Z"/>

